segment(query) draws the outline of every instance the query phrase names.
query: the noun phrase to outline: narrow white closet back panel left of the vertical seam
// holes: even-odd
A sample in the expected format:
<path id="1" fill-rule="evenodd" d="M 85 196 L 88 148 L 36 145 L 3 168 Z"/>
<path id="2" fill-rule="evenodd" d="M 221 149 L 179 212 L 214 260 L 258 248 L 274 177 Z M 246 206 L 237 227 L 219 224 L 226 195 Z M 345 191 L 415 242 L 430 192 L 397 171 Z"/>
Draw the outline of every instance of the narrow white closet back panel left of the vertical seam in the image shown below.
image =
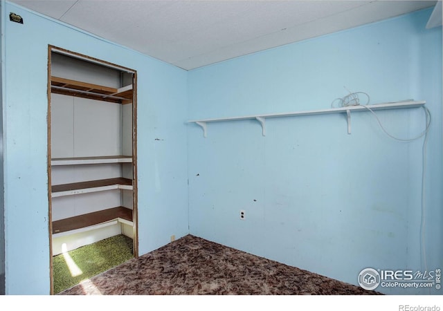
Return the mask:
<path id="1" fill-rule="evenodd" d="M 51 157 L 74 155 L 74 98 L 51 94 Z"/>

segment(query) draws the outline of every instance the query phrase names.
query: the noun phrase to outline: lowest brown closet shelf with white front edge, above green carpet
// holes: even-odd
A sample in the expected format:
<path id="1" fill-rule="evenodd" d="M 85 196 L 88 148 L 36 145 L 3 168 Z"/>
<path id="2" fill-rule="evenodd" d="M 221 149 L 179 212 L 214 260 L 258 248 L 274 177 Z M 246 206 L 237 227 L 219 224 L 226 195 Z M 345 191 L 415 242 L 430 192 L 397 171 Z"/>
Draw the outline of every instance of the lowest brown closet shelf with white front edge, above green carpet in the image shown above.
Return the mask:
<path id="1" fill-rule="evenodd" d="M 96 229 L 97 226 L 113 225 L 115 221 L 132 225 L 132 214 L 132 209 L 120 206 L 55 220 L 53 221 L 53 234 L 57 234 L 58 236 L 64 232 L 73 234 L 79 229 L 81 229 L 81 231 L 87 231 L 89 229 Z"/>

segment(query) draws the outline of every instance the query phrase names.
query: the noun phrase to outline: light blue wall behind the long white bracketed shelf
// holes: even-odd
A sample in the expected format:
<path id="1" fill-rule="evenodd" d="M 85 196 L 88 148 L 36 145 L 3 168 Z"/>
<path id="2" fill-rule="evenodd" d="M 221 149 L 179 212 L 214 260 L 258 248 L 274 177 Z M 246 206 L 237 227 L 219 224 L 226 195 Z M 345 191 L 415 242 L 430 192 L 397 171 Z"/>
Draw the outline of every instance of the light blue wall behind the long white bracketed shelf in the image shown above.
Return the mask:
<path id="1" fill-rule="evenodd" d="M 327 109 L 364 91 L 371 103 L 426 100 L 426 260 L 442 267 L 442 28 L 431 10 L 231 59 L 189 73 L 190 120 Z M 398 137 L 422 109 L 377 113 Z M 423 138 L 398 142 L 370 113 L 188 125 L 190 234 L 357 284 L 365 267 L 424 270 Z M 239 220 L 239 210 L 246 220 Z M 391 294 L 428 290 L 380 289 Z M 433 292 L 435 293 L 435 290 Z"/>

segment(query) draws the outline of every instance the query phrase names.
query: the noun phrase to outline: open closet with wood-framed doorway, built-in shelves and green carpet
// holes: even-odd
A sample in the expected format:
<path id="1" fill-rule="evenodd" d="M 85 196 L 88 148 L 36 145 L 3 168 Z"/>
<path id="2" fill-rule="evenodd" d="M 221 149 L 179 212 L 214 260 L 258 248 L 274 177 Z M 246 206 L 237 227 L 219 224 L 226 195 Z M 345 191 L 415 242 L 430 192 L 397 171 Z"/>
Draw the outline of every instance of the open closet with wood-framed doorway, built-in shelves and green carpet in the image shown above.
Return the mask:
<path id="1" fill-rule="evenodd" d="M 138 256 L 136 120 L 135 70 L 48 46 L 51 294 L 70 278 L 60 270 L 89 279 L 93 257 L 101 265 L 128 259 L 99 245 L 124 243 Z M 98 253 L 72 255 L 88 247 Z"/>

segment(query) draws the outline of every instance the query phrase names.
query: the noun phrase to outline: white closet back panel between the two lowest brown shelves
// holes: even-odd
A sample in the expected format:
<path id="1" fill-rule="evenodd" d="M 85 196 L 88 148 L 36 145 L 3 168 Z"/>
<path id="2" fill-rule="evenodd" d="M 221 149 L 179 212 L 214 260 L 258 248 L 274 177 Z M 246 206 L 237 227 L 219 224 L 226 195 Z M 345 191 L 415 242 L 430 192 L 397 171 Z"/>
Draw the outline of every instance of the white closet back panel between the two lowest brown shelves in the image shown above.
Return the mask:
<path id="1" fill-rule="evenodd" d="M 57 197 L 52 199 L 52 220 L 79 216 L 120 205 L 120 190 Z"/>

